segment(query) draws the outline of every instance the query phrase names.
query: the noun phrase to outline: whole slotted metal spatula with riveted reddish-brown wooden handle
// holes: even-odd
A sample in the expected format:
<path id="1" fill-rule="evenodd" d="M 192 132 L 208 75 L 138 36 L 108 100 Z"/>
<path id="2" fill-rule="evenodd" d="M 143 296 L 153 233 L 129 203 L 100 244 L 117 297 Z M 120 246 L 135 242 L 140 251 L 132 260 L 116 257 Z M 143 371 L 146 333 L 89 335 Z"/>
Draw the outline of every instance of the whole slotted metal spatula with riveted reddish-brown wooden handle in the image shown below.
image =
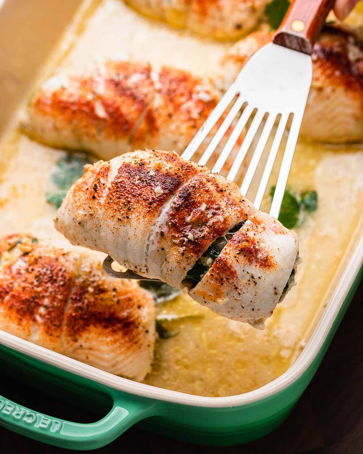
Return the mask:
<path id="1" fill-rule="evenodd" d="M 245 138 L 227 175 L 230 180 L 236 178 L 252 141 L 257 140 L 241 185 L 241 192 L 245 196 L 276 123 L 275 137 L 273 138 L 254 201 L 255 207 L 260 208 L 283 134 L 289 123 L 289 134 L 270 209 L 270 214 L 276 218 L 280 212 L 313 77 L 310 54 L 312 53 L 314 42 L 324 25 L 326 16 L 333 5 L 334 0 L 293 1 L 280 28 L 273 36 L 272 43 L 266 44 L 245 64 L 235 82 L 223 95 L 182 154 L 182 158 L 191 159 L 222 114 L 230 107 L 228 114 L 198 161 L 199 164 L 205 165 L 212 153 L 215 152 L 217 145 L 221 142 L 232 122 L 240 113 L 240 110 L 244 108 L 212 172 L 221 171 L 248 120 L 251 118 Z M 234 104 L 231 107 L 233 101 Z M 256 138 L 256 133 L 260 130 L 260 125 L 263 122 L 265 123 L 260 136 Z M 139 276 L 130 270 L 125 272 L 115 271 L 111 266 L 112 263 L 113 259 L 110 256 L 103 262 L 103 269 L 110 276 L 157 281 L 157 279 Z"/>

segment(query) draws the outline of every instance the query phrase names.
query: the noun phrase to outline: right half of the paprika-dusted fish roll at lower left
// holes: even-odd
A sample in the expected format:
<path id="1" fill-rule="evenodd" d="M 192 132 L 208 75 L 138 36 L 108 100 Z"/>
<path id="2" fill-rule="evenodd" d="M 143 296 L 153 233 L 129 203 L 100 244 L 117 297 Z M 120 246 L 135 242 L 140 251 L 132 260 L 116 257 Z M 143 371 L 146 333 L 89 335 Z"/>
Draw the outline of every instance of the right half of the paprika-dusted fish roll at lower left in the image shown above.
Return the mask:
<path id="1" fill-rule="evenodd" d="M 82 257 L 64 316 L 64 354 L 141 381 L 154 356 L 155 304 L 136 281 L 116 281 L 102 262 Z"/>

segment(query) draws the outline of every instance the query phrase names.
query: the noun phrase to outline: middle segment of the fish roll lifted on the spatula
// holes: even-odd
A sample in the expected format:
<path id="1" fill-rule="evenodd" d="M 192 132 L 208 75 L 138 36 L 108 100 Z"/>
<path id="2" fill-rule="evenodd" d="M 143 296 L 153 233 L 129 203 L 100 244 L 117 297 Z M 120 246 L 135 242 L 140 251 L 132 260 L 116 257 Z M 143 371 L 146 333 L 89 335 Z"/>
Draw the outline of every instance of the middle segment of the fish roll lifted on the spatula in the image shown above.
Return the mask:
<path id="1" fill-rule="evenodd" d="M 250 207 L 242 199 L 238 187 L 220 175 L 191 178 L 164 205 L 149 237 L 150 274 L 183 287 L 186 273 L 211 242 L 247 218 Z"/>

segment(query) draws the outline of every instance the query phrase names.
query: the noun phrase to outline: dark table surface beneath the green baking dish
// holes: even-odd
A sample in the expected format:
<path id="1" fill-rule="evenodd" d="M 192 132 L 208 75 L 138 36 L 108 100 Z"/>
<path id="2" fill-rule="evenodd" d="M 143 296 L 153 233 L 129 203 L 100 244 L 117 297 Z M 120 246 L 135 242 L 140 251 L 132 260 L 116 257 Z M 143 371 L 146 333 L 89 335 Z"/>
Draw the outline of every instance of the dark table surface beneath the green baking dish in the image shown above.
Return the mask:
<path id="1" fill-rule="evenodd" d="M 363 283 L 358 288 L 348 311 L 336 333 L 314 379 L 293 412 L 279 429 L 264 439 L 231 448 L 207 448 L 177 442 L 140 429 L 129 429 L 113 443 L 98 449 L 102 454 L 113 453 L 192 453 L 257 454 L 359 454 L 363 453 Z M 1 394 L 5 389 L 9 398 L 22 403 L 19 384 L 6 377 L 1 380 Z M 17 399 L 17 394 L 19 398 Z M 4 394 L 6 396 L 5 390 Z M 37 396 L 39 398 L 39 395 Z M 44 398 L 45 400 L 46 398 Z M 38 399 L 39 402 L 39 399 Z M 68 418 L 82 420 L 78 410 L 64 408 L 53 399 L 48 414 L 57 416 L 64 410 Z M 44 411 L 44 408 L 42 408 Z M 70 452 L 27 439 L 0 427 L 0 453 L 58 454 Z M 6 449 L 7 448 L 7 449 Z M 34 451 L 33 451 L 34 449 Z M 73 451 L 76 452 L 76 451 Z M 85 452 L 85 451 L 84 451 Z M 92 451 L 87 451 L 92 452 Z"/>

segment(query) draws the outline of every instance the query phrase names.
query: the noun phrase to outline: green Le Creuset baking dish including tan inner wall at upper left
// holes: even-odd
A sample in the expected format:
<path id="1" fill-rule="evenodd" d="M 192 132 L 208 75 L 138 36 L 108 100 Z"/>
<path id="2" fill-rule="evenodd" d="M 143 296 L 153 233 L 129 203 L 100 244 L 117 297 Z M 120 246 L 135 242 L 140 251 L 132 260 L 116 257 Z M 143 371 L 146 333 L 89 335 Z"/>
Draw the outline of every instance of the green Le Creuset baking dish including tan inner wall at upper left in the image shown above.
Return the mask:
<path id="1" fill-rule="evenodd" d="M 5 2 L 0 14 L 0 49 L 8 55 L 0 98 L 9 99 L 9 103 L 0 112 L 1 129 L 5 128 L 7 118 L 13 116 L 34 73 L 46 61 L 80 3 L 79 0 L 33 0 L 29 5 L 22 0 Z M 46 17 L 58 20 L 52 20 L 51 26 L 46 27 Z M 20 21 L 21 33 L 14 34 Z M 24 49 L 24 40 L 29 49 L 37 51 Z M 17 58 L 13 59 L 13 55 Z M 12 74 L 17 74 L 17 78 Z M 21 405 L 22 402 L 7 399 L 0 387 L 0 424 L 30 438 L 69 449 L 99 448 L 136 423 L 196 444 L 227 446 L 260 438 L 289 415 L 314 376 L 361 278 L 362 261 L 360 224 L 322 301 L 324 313 L 317 318 L 302 353 L 278 379 L 243 395 L 201 397 L 136 383 L 0 331 L 2 370 L 16 379 L 26 377 L 27 389 L 34 395 L 39 392 L 39 401 L 44 399 L 44 389 L 49 394 L 60 389 L 58 396 L 64 392 L 70 401 L 84 401 L 109 410 L 105 410 L 103 419 L 92 424 L 65 421 L 40 413 L 36 405 L 32 410 Z"/>

